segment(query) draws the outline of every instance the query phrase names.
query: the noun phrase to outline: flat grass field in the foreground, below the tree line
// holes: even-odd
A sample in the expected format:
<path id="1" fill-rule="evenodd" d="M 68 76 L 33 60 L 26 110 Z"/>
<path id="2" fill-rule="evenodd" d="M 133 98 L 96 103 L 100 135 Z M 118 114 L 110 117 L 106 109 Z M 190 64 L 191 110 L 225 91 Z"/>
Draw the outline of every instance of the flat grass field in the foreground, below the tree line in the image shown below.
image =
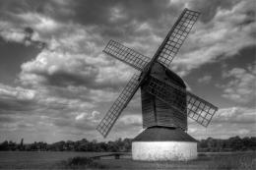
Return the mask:
<path id="1" fill-rule="evenodd" d="M 197 160 L 179 162 L 133 161 L 121 159 L 89 160 L 88 156 L 105 153 L 92 152 L 0 152 L 1 169 L 209 169 L 209 170 L 254 170 L 256 152 L 200 153 Z M 74 159 L 75 157 L 75 159 Z M 72 159 L 73 158 L 73 159 Z M 75 161 L 74 161 L 75 160 Z"/>

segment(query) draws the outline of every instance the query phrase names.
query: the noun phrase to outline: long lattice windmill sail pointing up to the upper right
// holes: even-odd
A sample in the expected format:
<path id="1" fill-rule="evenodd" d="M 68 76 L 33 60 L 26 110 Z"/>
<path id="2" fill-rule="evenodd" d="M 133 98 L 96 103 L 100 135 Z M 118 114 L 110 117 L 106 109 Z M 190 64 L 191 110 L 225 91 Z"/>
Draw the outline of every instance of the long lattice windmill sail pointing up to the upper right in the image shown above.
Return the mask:
<path id="1" fill-rule="evenodd" d="M 185 9 L 162 41 L 155 56 L 165 67 L 169 67 L 199 15 L 199 12 Z"/>

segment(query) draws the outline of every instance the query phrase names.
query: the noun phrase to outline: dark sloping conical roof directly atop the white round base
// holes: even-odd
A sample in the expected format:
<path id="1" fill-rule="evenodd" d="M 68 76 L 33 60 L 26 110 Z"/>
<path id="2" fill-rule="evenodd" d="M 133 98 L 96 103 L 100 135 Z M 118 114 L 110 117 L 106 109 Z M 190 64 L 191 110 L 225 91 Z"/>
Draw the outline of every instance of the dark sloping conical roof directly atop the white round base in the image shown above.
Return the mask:
<path id="1" fill-rule="evenodd" d="M 139 134 L 133 142 L 197 142 L 180 128 L 150 127 Z"/>

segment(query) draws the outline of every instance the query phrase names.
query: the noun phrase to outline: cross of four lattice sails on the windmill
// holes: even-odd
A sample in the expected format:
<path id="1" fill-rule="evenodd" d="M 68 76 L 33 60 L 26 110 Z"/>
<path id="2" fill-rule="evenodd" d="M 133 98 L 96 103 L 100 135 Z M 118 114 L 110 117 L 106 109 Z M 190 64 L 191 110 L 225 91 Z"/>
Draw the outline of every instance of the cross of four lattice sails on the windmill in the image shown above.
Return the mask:
<path id="1" fill-rule="evenodd" d="M 171 112 L 169 113 L 175 114 L 175 110 L 177 110 L 177 114 L 175 114 L 176 118 L 190 117 L 205 127 L 209 125 L 212 117 L 218 110 L 216 106 L 199 96 L 186 91 L 184 86 L 182 86 L 184 88 L 181 88 L 180 86 L 169 82 L 170 80 L 163 81 L 162 79 L 158 79 L 158 77 L 155 78 L 154 76 L 151 76 L 151 69 L 156 62 L 164 65 L 164 71 L 168 69 L 191 28 L 196 23 L 199 15 L 199 12 L 185 9 L 175 22 L 174 26 L 167 33 L 167 36 L 160 44 L 160 48 L 152 59 L 114 40 L 108 42 L 103 52 L 143 73 L 141 77 L 138 75 L 132 77 L 104 118 L 98 124 L 96 129 L 104 138 L 108 135 L 121 112 L 141 85 L 146 89 L 146 92 L 153 94 L 154 98 L 155 96 L 158 97 L 158 100 L 156 101 L 161 100 L 165 102 L 166 104 L 161 102 L 161 107 L 164 107 L 165 105 L 164 108 L 170 108 Z M 160 102 L 156 102 L 155 105 L 157 106 L 159 103 Z M 166 107 L 166 105 L 169 106 Z M 176 119 L 174 124 L 179 127 L 177 121 L 178 120 Z"/>

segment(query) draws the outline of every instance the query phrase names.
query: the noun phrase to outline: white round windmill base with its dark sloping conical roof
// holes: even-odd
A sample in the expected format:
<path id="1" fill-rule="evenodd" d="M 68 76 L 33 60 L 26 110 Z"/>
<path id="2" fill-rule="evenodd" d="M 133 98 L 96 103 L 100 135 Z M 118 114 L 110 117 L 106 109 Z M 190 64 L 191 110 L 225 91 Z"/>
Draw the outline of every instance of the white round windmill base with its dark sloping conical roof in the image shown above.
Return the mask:
<path id="1" fill-rule="evenodd" d="M 197 158 L 197 141 L 180 129 L 151 127 L 132 142 L 133 160 L 165 161 Z"/>

